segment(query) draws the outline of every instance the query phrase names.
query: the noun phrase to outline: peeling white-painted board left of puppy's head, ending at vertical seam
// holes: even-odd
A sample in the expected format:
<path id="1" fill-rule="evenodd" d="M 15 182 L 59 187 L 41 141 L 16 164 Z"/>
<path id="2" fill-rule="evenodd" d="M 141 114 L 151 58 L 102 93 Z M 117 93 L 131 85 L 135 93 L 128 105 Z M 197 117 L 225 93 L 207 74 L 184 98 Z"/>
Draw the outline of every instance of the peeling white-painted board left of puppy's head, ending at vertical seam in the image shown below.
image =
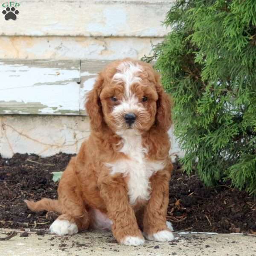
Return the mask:
<path id="1" fill-rule="evenodd" d="M 1 114 L 79 114 L 80 61 L 0 60 Z"/>

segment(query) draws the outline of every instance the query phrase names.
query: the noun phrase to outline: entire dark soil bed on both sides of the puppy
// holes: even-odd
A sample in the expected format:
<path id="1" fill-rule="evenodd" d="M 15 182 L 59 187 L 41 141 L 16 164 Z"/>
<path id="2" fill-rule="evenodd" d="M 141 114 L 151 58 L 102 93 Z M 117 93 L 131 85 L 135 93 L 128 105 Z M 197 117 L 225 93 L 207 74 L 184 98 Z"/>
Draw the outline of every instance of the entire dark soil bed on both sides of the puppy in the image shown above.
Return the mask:
<path id="1" fill-rule="evenodd" d="M 58 184 L 52 181 L 52 172 L 64 171 L 71 156 L 63 153 L 46 158 L 34 154 L 15 154 L 10 159 L 0 156 L 0 227 L 48 228 L 57 215 L 31 212 L 23 200 L 57 198 Z M 205 187 L 196 175 L 188 177 L 175 166 L 167 218 L 175 230 L 255 233 L 256 199 L 230 188 L 229 183 Z"/>

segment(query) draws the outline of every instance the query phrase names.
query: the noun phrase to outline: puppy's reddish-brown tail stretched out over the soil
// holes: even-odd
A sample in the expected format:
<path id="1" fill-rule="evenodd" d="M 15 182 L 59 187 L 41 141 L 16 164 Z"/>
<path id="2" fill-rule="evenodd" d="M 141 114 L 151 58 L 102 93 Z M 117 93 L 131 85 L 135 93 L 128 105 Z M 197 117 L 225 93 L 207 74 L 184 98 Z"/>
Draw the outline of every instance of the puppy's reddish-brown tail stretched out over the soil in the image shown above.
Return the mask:
<path id="1" fill-rule="evenodd" d="M 52 211 L 61 213 L 61 205 L 59 204 L 58 200 L 43 198 L 37 202 L 31 200 L 24 200 L 24 202 L 33 212 Z"/>

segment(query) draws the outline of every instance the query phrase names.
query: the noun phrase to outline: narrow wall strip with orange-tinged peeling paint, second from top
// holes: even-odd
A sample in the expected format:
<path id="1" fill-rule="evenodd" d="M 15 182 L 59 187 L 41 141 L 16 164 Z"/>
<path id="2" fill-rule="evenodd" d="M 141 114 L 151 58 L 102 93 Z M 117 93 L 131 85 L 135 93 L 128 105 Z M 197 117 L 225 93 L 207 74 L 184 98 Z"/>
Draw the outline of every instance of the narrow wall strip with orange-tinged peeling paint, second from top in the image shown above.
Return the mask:
<path id="1" fill-rule="evenodd" d="M 0 36 L 0 58 L 58 60 L 140 59 L 151 53 L 152 45 L 163 38 L 152 37 L 71 37 Z"/>

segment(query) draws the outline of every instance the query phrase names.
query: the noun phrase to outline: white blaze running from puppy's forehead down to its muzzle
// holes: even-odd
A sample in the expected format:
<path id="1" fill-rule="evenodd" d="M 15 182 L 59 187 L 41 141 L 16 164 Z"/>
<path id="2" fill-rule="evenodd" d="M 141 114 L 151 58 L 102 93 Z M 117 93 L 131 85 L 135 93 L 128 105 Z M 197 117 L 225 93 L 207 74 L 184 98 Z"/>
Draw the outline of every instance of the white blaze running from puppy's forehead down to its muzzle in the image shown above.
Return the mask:
<path id="1" fill-rule="evenodd" d="M 140 82 L 139 73 L 143 71 L 142 66 L 131 61 L 122 62 L 117 67 L 117 73 L 113 76 L 113 81 L 124 83 L 124 96 L 119 105 L 113 109 L 113 115 L 120 117 L 125 113 L 143 111 L 143 106 L 139 105 L 139 99 L 132 93 L 131 85 Z"/>

